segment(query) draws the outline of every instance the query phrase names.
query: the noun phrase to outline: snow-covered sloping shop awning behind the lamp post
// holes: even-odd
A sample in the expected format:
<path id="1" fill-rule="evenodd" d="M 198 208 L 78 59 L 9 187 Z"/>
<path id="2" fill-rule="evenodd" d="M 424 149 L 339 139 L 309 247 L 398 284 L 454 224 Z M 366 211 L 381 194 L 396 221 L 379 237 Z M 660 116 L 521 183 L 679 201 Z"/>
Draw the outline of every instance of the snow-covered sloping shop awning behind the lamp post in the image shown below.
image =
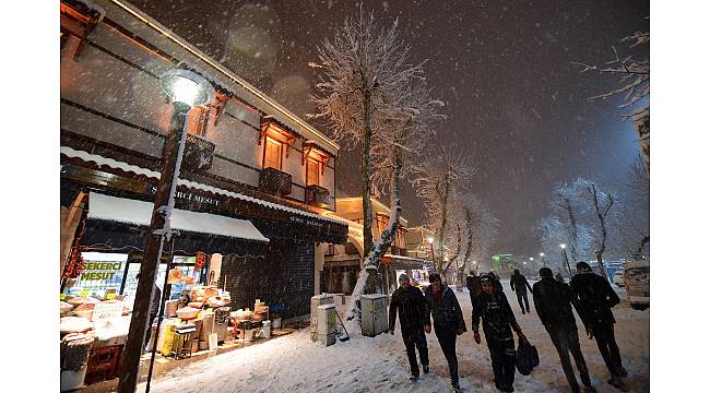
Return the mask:
<path id="1" fill-rule="evenodd" d="M 90 219 L 102 219 L 118 223 L 150 226 L 153 204 L 126 198 L 104 195 L 96 192 L 88 193 Z M 174 209 L 170 215 L 170 227 L 191 233 L 220 235 L 238 239 L 268 242 L 251 222 Z"/>

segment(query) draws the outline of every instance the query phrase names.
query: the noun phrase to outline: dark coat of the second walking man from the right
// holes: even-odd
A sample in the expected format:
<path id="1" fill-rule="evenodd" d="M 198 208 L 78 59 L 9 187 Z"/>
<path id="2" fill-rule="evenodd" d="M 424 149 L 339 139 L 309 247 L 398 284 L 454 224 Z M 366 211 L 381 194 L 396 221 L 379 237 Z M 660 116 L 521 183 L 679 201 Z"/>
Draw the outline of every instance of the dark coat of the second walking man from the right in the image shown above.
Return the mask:
<path id="1" fill-rule="evenodd" d="M 575 306 L 578 314 L 581 312 L 569 285 L 553 277 L 543 277 L 533 284 L 532 293 L 535 311 L 546 330 L 564 326 L 569 331 L 577 331 L 577 321 L 570 303 Z"/>

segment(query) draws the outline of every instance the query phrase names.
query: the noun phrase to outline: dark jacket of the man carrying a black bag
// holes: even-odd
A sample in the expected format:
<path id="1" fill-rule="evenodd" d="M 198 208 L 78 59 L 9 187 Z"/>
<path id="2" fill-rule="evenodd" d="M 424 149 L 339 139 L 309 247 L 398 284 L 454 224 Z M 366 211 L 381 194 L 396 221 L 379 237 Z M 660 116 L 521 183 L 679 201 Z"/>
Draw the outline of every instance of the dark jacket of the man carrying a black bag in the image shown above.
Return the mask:
<path id="1" fill-rule="evenodd" d="M 496 290 L 493 291 L 493 295 L 481 293 L 474 300 L 473 331 L 478 331 L 478 322 L 483 319 L 483 333 L 486 335 L 486 341 L 511 340 L 511 327 L 516 332 L 521 331 L 510 303 L 508 303 L 508 298 L 502 293 Z"/>

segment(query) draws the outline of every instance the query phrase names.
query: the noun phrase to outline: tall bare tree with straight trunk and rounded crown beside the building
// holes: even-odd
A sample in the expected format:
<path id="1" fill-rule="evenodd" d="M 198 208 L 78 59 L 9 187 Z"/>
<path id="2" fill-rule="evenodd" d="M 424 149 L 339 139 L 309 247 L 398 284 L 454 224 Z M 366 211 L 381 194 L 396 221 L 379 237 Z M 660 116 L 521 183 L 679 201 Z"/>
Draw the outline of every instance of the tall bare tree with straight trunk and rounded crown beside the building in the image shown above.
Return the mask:
<path id="1" fill-rule="evenodd" d="M 326 118 L 334 138 L 346 147 L 359 144 L 363 195 L 364 255 L 372 248 L 372 140 L 382 124 L 401 115 L 401 93 L 413 78 L 422 74 L 421 64 L 411 64 L 410 48 L 404 44 L 398 23 L 380 28 L 370 13 L 347 20 L 318 49 L 318 95 L 313 97 L 319 111 L 309 117 Z"/>

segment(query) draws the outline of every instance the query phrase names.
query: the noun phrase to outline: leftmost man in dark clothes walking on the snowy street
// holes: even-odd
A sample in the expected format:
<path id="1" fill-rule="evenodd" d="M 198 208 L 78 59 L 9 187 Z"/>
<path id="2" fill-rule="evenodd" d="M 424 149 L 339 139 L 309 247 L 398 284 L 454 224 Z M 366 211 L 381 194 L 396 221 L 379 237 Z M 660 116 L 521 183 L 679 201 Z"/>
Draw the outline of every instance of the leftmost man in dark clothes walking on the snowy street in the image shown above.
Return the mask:
<path id="1" fill-rule="evenodd" d="M 400 315 L 400 329 L 402 340 L 406 348 L 406 357 L 410 359 L 413 382 L 419 379 L 419 366 L 416 362 L 414 347 L 419 350 L 422 369 L 424 373 L 429 372 L 429 352 L 426 347 L 424 325 L 429 323 L 426 318 L 426 299 L 416 287 L 410 285 L 410 277 L 401 274 L 399 277 L 400 287 L 392 294 L 390 301 L 390 333 L 394 334 L 394 320 Z M 429 326 L 431 329 L 431 326 Z"/>

